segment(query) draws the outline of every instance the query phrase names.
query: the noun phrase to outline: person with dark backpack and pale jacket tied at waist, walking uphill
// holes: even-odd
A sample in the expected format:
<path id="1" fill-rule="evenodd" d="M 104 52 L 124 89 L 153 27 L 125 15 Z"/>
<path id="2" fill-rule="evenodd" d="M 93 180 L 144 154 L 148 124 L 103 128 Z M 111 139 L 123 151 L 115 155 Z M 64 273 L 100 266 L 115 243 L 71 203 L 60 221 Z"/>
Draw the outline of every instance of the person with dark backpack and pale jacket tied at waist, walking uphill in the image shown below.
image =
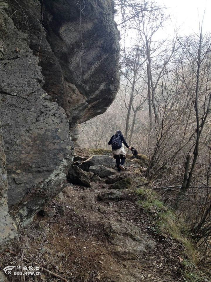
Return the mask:
<path id="1" fill-rule="evenodd" d="M 111 137 L 110 141 L 108 142 L 108 145 L 111 145 L 112 147 L 112 153 L 113 157 L 116 159 L 118 172 L 120 172 L 121 170 L 125 170 L 124 163 L 126 159 L 126 152 L 124 145 L 130 150 L 131 147 L 127 145 L 121 130 L 117 130 L 115 135 Z"/>

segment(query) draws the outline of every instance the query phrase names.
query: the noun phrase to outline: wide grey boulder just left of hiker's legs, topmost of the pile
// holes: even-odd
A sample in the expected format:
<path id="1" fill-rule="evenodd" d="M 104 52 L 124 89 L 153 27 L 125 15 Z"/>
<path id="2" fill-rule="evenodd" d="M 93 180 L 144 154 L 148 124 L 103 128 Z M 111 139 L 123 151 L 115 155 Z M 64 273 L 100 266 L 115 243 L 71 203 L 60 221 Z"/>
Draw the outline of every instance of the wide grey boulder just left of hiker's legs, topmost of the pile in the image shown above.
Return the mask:
<path id="1" fill-rule="evenodd" d="M 87 159 L 82 164 L 79 164 L 79 167 L 85 171 L 89 171 L 90 166 L 104 165 L 109 168 L 113 168 L 116 164 L 116 161 L 113 157 L 106 155 L 95 155 Z"/>

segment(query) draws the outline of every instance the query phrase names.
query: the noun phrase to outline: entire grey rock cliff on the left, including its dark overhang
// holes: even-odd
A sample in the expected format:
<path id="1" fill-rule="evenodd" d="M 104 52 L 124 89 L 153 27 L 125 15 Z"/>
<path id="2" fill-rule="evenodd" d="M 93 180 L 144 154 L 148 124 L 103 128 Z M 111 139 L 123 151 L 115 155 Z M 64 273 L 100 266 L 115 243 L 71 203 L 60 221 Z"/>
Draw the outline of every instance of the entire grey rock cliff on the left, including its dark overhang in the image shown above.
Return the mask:
<path id="1" fill-rule="evenodd" d="M 0 2 L 8 207 L 24 223 L 61 191 L 78 123 L 103 113 L 115 98 L 119 44 L 112 5 L 110 0 Z M 5 190 L 0 204 L 15 235 Z"/>

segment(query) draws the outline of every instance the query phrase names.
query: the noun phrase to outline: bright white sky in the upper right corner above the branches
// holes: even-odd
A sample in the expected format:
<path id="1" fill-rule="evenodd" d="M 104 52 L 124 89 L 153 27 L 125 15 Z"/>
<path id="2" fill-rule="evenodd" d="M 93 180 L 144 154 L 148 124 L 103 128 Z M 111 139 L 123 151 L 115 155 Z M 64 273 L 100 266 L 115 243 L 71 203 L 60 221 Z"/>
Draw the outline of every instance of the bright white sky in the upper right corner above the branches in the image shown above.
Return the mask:
<path id="1" fill-rule="evenodd" d="M 171 34 L 172 28 L 176 25 L 180 27 L 181 35 L 188 35 L 193 32 L 198 32 L 199 22 L 203 18 L 204 10 L 205 17 L 203 22 L 203 34 L 211 31 L 211 0 L 156 0 L 159 5 L 168 7 L 168 12 L 171 15 L 172 26 L 166 27 L 166 32 Z"/>

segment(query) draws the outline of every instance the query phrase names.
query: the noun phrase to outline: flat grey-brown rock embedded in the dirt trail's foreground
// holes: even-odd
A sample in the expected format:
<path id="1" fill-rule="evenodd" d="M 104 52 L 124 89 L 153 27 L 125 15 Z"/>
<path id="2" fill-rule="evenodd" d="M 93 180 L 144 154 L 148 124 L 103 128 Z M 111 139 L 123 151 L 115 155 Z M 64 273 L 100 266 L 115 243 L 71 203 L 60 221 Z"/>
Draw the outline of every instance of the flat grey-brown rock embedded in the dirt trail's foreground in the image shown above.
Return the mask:
<path id="1" fill-rule="evenodd" d="M 155 241 L 125 219 L 104 221 L 104 232 L 115 245 L 114 253 L 124 259 L 137 259 L 156 247 Z"/>

